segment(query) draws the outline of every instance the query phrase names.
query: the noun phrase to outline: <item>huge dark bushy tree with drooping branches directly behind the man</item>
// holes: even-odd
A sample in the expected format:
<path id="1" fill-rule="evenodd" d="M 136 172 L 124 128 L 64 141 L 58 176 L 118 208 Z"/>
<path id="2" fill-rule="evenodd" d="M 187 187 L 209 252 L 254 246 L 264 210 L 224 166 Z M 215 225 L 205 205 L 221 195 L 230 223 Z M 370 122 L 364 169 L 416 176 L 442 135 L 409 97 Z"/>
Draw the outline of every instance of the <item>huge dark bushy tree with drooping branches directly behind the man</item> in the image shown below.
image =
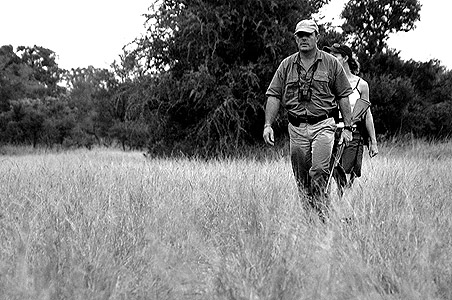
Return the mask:
<path id="1" fill-rule="evenodd" d="M 296 51 L 293 29 L 327 2 L 161 1 L 135 58 L 158 71 L 150 107 L 167 132 L 208 151 L 260 141 L 265 89 Z"/>

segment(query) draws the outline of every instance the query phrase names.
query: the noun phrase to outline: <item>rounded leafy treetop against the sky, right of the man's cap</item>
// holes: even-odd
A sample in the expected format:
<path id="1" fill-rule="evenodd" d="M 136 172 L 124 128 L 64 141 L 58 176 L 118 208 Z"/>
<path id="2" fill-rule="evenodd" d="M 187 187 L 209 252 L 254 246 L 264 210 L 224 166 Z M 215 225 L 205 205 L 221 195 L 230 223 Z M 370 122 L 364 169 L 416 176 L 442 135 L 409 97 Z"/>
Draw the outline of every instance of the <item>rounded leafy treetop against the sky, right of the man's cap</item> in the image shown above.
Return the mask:
<path id="1" fill-rule="evenodd" d="M 341 13 L 342 29 L 357 52 L 372 57 L 387 48 L 390 33 L 412 30 L 420 10 L 418 0 L 351 0 Z"/>

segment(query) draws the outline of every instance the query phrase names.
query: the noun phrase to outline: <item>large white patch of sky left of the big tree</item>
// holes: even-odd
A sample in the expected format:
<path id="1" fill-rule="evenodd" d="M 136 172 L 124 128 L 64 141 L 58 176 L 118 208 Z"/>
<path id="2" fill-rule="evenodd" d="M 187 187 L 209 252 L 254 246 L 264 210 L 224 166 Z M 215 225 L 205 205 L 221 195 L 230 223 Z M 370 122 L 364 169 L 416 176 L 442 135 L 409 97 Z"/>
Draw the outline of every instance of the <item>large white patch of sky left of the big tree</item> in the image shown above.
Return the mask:
<path id="1" fill-rule="evenodd" d="M 60 68 L 110 68 L 154 0 L 2 0 L 0 46 L 42 46 Z"/>

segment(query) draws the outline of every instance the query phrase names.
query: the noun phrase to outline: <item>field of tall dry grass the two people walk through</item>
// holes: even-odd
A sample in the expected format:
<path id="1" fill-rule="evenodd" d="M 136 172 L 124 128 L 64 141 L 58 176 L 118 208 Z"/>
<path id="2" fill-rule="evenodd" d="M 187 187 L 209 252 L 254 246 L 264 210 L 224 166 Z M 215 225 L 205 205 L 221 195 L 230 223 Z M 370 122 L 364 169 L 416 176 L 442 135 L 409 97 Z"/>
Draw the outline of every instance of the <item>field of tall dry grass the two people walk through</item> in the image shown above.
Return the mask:
<path id="1" fill-rule="evenodd" d="M 0 156 L 0 299 L 452 299 L 452 143 L 380 152 L 326 225 L 286 157 Z"/>

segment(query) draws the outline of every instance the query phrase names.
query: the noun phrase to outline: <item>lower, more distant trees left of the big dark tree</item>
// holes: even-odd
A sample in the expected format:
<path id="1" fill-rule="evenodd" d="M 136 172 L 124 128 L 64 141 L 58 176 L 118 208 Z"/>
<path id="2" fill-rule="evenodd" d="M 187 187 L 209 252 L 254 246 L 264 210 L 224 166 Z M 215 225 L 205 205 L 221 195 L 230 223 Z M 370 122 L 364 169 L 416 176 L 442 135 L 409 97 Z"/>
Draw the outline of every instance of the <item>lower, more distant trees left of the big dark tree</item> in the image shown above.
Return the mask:
<path id="1" fill-rule="evenodd" d="M 62 70 L 44 47 L 0 48 L 0 143 L 146 148 L 137 81 L 94 67 Z M 117 65 L 115 65 L 118 68 Z M 135 101 L 135 104 L 133 103 Z"/>

